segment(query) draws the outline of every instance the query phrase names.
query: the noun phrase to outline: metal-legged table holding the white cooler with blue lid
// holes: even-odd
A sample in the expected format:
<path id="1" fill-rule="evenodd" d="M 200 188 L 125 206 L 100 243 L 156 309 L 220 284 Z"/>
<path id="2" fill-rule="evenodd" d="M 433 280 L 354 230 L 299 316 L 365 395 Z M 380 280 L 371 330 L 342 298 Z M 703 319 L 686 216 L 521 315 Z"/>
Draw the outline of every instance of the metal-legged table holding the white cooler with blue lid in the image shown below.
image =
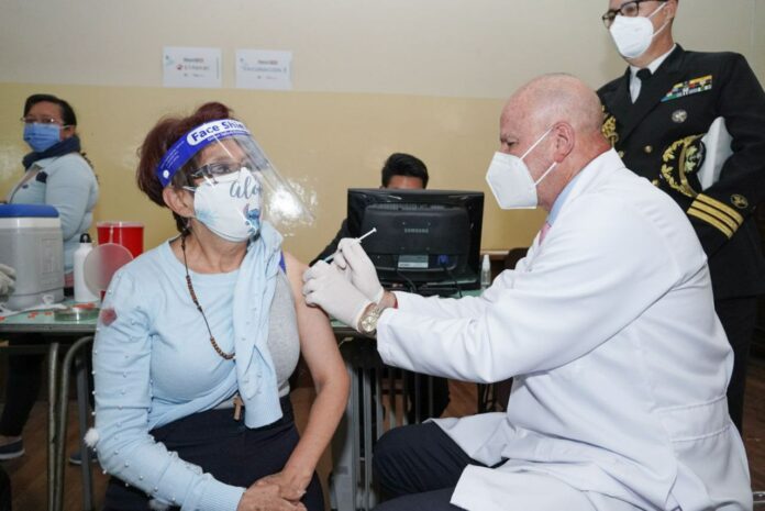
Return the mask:
<path id="1" fill-rule="evenodd" d="M 64 493 L 64 448 L 66 445 L 67 402 L 69 390 L 69 368 L 76 359 L 79 362 L 77 370 L 77 395 L 79 402 L 87 402 L 88 377 L 85 373 L 81 348 L 92 342 L 96 331 L 96 320 L 88 321 L 56 321 L 53 311 L 24 312 L 10 316 L 0 316 L 0 336 L 2 334 L 44 334 L 44 344 L 23 344 L 19 340 L 18 345 L 2 346 L 10 353 L 42 348 L 47 353 L 48 371 L 48 443 L 47 443 L 47 479 L 48 479 L 48 510 L 58 511 L 63 507 Z M 58 351 L 63 343 L 71 344 L 63 360 L 58 360 Z M 87 427 L 87 412 L 80 407 L 80 427 Z M 88 463 L 88 452 L 81 444 L 82 456 L 82 502 L 87 510 L 92 509 L 92 489 Z"/>

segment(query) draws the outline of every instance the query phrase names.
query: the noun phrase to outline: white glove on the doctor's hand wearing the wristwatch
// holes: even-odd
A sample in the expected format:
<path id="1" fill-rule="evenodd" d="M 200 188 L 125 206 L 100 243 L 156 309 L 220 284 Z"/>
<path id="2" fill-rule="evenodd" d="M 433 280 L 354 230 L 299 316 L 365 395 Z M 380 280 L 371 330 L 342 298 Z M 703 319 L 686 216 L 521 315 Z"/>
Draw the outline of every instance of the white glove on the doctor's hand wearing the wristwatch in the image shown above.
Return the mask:
<path id="1" fill-rule="evenodd" d="M 356 330 L 362 313 L 372 303 L 337 268 L 323 260 L 306 270 L 302 291 L 306 303 L 321 307 L 328 314 Z"/>

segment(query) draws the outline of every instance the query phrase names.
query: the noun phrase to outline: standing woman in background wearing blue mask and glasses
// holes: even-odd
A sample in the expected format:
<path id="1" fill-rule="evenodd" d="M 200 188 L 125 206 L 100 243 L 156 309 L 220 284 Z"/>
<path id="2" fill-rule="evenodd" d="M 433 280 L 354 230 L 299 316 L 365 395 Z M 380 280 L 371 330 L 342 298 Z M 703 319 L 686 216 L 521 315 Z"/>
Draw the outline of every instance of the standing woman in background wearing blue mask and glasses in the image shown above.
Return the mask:
<path id="1" fill-rule="evenodd" d="M 73 254 L 80 234 L 90 229 L 98 182 L 81 152 L 77 116 L 69 103 L 51 95 L 30 96 L 24 103 L 22 122 L 24 142 L 32 152 L 24 156 L 24 176 L 7 201 L 56 208 L 64 237 L 65 295 L 71 296 Z M 25 342 L 30 342 L 29 337 Z M 21 434 L 37 399 L 42 362 L 43 355 L 8 357 L 5 407 L 0 418 L 0 459 L 24 454 Z"/>

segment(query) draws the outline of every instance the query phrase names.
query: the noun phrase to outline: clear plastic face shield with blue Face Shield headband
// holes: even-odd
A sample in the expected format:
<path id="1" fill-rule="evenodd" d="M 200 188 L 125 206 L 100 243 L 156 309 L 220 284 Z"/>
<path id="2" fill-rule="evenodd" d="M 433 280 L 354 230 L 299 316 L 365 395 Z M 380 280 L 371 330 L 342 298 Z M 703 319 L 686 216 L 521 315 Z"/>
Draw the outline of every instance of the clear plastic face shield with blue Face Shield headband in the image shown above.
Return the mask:
<path id="1" fill-rule="evenodd" d="M 241 171 L 248 171 L 259 184 L 263 220 L 285 235 L 313 223 L 311 211 L 239 121 L 202 124 L 174 144 L 157 167 L 157 176 L 166 186 L 179 170 L 186 173 L 192 187 L 230 181 Z"/>

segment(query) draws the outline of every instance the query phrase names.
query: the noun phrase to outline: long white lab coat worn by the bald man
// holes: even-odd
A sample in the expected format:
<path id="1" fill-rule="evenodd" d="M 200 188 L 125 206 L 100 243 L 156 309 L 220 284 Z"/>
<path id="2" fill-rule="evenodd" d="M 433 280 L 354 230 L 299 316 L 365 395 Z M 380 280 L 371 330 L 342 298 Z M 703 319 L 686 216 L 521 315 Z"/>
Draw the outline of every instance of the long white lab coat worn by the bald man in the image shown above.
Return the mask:
<path id="1" fill-rule="evenodd" d="M 677 204 L 616 152 L 583 169 L 544 243 L 481 297 L 397 298 L 378 323 L 386 364 L 514 377 L 507 413 L 437 421 L 473 458 L 508 459 L 465 469 L 455 506 L 540 509 L 507 489 L 534 471 L 603 511 L 602 496 L 650 510 L 752 508 L 706 256 Z"/>

